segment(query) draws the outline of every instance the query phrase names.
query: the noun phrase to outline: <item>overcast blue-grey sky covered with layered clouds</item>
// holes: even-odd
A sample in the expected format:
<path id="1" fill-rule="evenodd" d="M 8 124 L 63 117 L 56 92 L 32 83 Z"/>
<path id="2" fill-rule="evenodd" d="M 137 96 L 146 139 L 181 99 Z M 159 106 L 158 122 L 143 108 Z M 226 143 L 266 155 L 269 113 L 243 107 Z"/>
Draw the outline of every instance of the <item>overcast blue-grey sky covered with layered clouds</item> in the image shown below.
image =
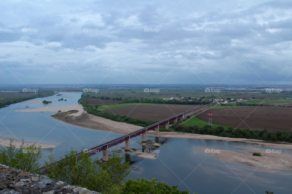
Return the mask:
<path id="1" fill-rule="evenodd" d="M 292 1 L 0 0 L 2 84 L 292 84 Z"/>

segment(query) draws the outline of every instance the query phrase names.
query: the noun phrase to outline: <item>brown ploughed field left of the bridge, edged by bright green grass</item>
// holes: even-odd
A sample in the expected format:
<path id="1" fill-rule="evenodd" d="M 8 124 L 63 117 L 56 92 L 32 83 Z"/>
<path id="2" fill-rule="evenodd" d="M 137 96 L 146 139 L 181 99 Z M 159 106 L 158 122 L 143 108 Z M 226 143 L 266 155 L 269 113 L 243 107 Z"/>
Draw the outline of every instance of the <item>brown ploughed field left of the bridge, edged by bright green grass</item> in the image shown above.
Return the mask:
<path id="1" fill-rule="evenodd" d="M 134 119 L 141 119 L 142 121 L 161 121 L 171 116 L 194 109 L 202 105 L 177 105 L 177 104 L 161 104 L 161 105 L 138 105 L 138 106 L 124 106 L 104 110 L 111 114 L 128 115 Z"/>

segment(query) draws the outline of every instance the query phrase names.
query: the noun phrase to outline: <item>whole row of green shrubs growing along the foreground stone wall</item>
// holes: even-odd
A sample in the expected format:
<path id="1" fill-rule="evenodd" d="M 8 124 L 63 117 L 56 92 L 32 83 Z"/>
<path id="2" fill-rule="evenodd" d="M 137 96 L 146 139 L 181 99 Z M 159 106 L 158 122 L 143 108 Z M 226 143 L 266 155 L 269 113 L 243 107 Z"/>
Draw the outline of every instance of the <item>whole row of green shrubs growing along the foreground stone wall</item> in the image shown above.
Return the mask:
<path id="1" fill-rule="evenodd" d="M 156 179 L 129 179 L 124 181 L 128 176 L 129 162 L 123 163 L 123 157 L 113 153 L 108 162 L 100 162 L 98 158 L 92 159 L 89 153 L 82 153 L 80 159 L 76 159 L 77 151 L 71 150 L 64 156 L 64 161 L 58 165 L 52 165 L 51 162 L 56 161 L 54 155 L 49 156 L 46 162 L 45 175 L 67 182 L 70 185 L 85 187 L 95 190 L 103 194 L 188 194 L 187 191 L 177 190 L 178 186 L 168 186 L 165 182 L 158 183 Z M 24 141 L 20 148 L 13 145 L 10 141 L 8 147 L 0 147 L 0 163 L 12 168 L 21 169 L 23 171 L 35 172 L 39 167 L 39 159 L 41 159 L 41 147 L 33 145 L 25 145 Z"/>

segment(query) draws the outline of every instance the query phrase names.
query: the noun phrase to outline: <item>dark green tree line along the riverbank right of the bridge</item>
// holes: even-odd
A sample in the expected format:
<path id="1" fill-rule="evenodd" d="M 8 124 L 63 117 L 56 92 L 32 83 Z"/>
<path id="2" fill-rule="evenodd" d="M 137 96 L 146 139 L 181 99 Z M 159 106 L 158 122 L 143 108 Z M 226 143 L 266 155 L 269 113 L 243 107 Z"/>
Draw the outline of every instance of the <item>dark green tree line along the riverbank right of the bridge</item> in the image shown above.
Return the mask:
<path id="1" fill-rule="evenodd" d="M 246 139 L 260 139 L 264 141 L 282 141 L 282 142 L 292 142 L 292 132 L 287 131 L 277 131 L 276 133 L 269 132 L 266 129 L 263 130 L 252 130 L 252 129 L 234 129 L 233 127 L 228 127 L 224 129 L 222 126 L 216 128 L 210 125 L 205 125 L 200 127 L 198 125 L 186 126 L 183 123 L 172 125 L 172 128 L 176 131 L 196 133 L 202 135 L 216 135 L 220 137 L 231 137 L 231 138 L 246 138 Z"/>

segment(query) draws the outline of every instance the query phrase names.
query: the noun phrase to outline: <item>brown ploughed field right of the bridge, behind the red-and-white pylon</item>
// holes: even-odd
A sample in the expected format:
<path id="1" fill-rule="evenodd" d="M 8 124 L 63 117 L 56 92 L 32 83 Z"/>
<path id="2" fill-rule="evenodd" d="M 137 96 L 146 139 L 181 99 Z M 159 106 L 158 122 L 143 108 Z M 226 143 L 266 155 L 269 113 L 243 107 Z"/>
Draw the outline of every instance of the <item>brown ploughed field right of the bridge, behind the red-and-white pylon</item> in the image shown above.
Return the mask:
<path id="1" fill-rule="evenodd" d="M 228 114 L 225 114 L 225 109 L 214 109 L 212 112 L 212 122 L 218 125 L 241 129 L 267 129 L 273 132 L 292 131 L 292 109 L 255 107 L 228 109 Z M 207 112 L 202 112 L 196 117 L 208 122 Z"/>

